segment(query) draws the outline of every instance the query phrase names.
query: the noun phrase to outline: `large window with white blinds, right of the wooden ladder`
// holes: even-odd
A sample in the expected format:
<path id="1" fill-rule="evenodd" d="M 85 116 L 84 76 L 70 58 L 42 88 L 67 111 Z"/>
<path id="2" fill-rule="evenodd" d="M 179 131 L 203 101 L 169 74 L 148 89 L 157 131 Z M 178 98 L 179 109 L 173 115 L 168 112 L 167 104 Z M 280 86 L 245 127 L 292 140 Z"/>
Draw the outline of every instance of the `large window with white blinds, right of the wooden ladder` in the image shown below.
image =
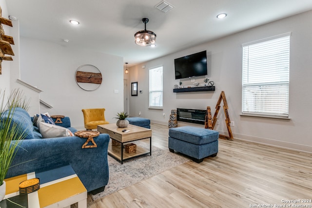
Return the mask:
<path id="1" fill-rule="evenodd" d="M 242 45 L 242 114 L 288 117 L 290 35 Z"/>

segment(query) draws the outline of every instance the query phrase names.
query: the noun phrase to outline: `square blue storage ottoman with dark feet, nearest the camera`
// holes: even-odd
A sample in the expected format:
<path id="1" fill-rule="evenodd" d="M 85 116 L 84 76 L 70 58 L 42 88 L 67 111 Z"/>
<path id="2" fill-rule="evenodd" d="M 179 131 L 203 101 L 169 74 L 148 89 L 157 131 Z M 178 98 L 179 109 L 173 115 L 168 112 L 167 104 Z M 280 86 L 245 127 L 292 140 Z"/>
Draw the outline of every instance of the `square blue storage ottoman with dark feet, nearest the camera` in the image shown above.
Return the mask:
<path id="1" fill-rule="evenodd" d="M 215 157 L 218 153 L 219 132 L 204 128 L 183 126 L 169 129 L 168 147 L 200 163 L 205 157 Z"/>

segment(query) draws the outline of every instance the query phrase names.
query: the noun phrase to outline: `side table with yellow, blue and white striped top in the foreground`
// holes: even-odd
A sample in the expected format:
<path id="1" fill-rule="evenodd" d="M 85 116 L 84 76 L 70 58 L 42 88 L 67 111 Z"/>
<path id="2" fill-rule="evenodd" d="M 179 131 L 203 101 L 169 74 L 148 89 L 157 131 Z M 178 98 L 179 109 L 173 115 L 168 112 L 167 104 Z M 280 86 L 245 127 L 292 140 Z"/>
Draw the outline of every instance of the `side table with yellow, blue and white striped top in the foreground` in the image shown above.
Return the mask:
<path id="1" fill-rule="evenodd" d="M 20 183 L 31 178 L 40 179 L 40 189 L 20 195 Z M 0 202 L 3 208 L 17 207 L 14 203 L 26 208 L 70 208 L 77 202 L 78 208 L 87 207 L 87 189 L 70 165 L 7 178 L 5 182 L 6 195 Z"/>

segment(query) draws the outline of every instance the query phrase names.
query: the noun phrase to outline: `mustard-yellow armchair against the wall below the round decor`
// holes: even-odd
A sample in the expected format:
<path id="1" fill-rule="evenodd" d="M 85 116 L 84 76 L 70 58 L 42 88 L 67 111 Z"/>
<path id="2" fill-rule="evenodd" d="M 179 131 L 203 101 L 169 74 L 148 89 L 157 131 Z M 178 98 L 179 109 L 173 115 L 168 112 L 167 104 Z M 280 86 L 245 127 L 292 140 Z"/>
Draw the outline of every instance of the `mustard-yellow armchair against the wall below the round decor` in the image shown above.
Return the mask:
<path id="1" fill-rule="evenodd" d="M 82 109 L 84 118 L 84 128 L 87 130 L 97 129 L 98 125 L 109 124 L 105 121 L 105 108 Z"/>

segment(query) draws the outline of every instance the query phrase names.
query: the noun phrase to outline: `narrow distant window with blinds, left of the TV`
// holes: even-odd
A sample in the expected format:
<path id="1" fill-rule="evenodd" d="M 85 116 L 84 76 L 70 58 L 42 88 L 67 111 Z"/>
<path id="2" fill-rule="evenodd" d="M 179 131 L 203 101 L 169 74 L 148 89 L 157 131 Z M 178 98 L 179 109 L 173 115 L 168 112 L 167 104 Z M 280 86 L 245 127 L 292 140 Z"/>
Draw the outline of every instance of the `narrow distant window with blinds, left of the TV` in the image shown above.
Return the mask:
<path id="1" fill-rule="evenodd" d="M 150 69 L 149 108 L 162 109 L 162 66 Z"/>

